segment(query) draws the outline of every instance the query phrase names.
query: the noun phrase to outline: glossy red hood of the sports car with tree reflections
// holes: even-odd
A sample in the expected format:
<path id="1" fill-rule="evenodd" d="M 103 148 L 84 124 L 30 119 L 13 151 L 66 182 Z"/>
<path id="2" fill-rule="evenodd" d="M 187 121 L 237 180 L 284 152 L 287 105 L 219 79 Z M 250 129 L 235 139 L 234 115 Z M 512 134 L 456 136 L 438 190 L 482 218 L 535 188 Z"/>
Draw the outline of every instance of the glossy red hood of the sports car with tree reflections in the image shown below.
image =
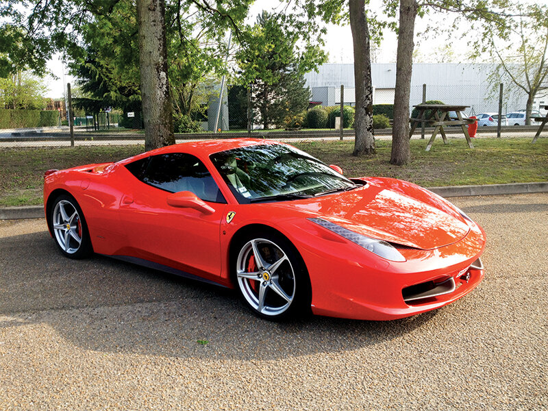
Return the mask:
<path id="1" fill-rule="evenodd" d="M 364 236 L 417 249 L 452 244 L 470 229 L 462 219 L 373 184 L 295 206 Z"/>

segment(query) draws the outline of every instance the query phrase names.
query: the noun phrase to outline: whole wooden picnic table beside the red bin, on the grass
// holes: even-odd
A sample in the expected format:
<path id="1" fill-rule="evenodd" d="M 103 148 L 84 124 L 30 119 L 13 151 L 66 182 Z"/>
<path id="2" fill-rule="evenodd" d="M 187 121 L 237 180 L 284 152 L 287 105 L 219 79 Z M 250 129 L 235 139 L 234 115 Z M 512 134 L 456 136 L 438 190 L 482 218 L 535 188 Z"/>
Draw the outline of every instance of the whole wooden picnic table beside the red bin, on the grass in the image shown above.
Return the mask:
<path id="1" fill-rule="evenodd" d="M 470 136 L 468 134 L 468 127 L 466 126 L 476 120 L 464 119 L 461 113 L 466 108 L 469 108 L 469 105 L 417 104 L 413 107 L 419 110 L 419 116 L 416 119 L 409 119 L 409 121 L 411 122 L 409 138 L 411 138 L 411 136 L 413 135 L 416 126 L 421 123 L 425 123 L 425 125 L 435 127 L 434 132 L 432 132 L 432 137 L 430 137 L 430 140 L 426 145 L 426 151 L 430 151 L 430 147 L 432 147 L 432 143 L 434 142 L 434 139 L 436 138 L 438 133 L 441 134 L 443 142 L 447 144 L 447 136 L 445 136 L 445 129 L 443 129 L 443 127 L 446 127 L 448 125 L 460 125 L 460 127 L 462 127 L 464 137 L 466 137 L 466 142 L 468 142 L 468 147 L 470 147 L 471 149 L 474 148 L 472 140 L 470 139 Z M 425 118 L 425 113 L 427 112 L 427 110 L 430 110 L 430 114 L 427 118 Z M 457 119 L 451 119 L 451 117 L 449 116 L 449 112 L 455 112 L 457 115 Z"/>

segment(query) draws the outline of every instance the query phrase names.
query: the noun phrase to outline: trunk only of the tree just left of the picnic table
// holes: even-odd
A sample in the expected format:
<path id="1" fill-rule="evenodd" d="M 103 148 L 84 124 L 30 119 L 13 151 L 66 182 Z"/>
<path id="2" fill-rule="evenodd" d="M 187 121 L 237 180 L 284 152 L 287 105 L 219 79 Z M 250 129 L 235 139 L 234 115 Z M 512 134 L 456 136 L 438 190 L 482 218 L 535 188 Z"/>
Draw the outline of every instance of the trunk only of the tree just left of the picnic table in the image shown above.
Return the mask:
<path id="1" fill-rule="evenodd" d="M 409 100 L 413 69 L 413 35 L 418 5 L 415 0 L 400 0 L 398 51 L 396 59 L 396 92 L 390 163 L 401 166 L 409 162 Z"/>

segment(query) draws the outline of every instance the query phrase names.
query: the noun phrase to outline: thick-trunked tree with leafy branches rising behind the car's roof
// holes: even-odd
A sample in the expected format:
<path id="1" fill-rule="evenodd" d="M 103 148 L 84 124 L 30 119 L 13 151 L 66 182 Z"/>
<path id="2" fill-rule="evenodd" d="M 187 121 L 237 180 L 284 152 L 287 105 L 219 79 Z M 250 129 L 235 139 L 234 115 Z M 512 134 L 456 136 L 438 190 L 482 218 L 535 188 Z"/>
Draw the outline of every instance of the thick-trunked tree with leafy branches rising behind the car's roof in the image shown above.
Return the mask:
<path id="1" fill-rule="evenodd" d="M 171 142 L 173 128 L 171 127 L 171 101 L 169 99 L 169 64 L 166 56 L 171 47 L 178 49 L 176 55 L 187 62 L 193 55 L 207 55 L 210 47 L 199 51 L 200 45 L 214 43 L 223 49 L 222 38 L 227 28 L 238 32 L 238 25 L 243 21 L 252 0 L 219 0 L 210 3 L 208 0 L 145 0 L 138 1 L 138 21 L 134 32 L 130 28 L 116 32 L 114 30 L 96 37 L 96 43 L 101 47 L 94 47 L 100 51 L 99 56 L 112 57 L 107 64 L 111 69 L 119 70 L 124 65 L 120 45 L 114 44 L 112 55 L 109 56 L 108 42 L 118 34 L 127 34 L 125 43 L 130 45 L 138 41 L 138 48 L 128 47 L 133 53 L 127 59 L 133 62 L 140 56 L 141 70 L 138 77 L 142 77 L 140 85 L 142 106 L 145 112 L 145 147 L 155 147 Z M 54 51 L 62 51 L 75 64 L 86 60 L 86 40 L 93 34 L 101 34 L 101 25 L 110 19 L 119 23 L 125 19 L 128 26 L 134 21 L 136 6 L 131 0 L 66 0 L 36 2 L 33 8 L 27 10 L 27 1 L 8 0 L 0 6 L 0 69 L 10 67 L 12 62 L 25 62 L 36 71 L 45 70 L 45 62 L 51 58 Z M 128 14 L 127 10 L 132 10 Z M 123 17 L 118 17 L 118 12 Z M 133 16 L 132 16 L 133 14 Z M 139 27 L 140 26 L 140 27 Z M 167 40 L 162 33 L 177 32 L 179 36 Z M 164 38 L 166 39 L 164 41 Z M 203 40 L 205 39 L 205 40 Z M 12 40 L 16 40 L 15 42 Z M 122 43 L 124 44 L 124 43 Z M 225 47 L 224 47 L 225 48 Z M 197 50 L 197 53 L 194 53 Z M 137 52 L 136 52 L 137 51 Z M 173 57 L 173 56 L 172 56 Z M 101 59 L 99 59 L 100 62 Z M 208 59 L 208 69 L 225 71 L 219 58 Z M 186 65 L 182 76 L 195 80 L 199 70 L 193 70 L 192 64 Z M 203 64 L 198 68 L 202 69 Z M 136 65 L 138 67 L 138 65 Z M 120 74 L 120 71 L 116 73 Z M 152 89 L 149 85 L 153 85 Z M 113 90 L 114 91 L 114 90 Z M 157 92 L 158 91 L 158 92 Z M 146 108 L 145 108 L 146 107 Z"/>

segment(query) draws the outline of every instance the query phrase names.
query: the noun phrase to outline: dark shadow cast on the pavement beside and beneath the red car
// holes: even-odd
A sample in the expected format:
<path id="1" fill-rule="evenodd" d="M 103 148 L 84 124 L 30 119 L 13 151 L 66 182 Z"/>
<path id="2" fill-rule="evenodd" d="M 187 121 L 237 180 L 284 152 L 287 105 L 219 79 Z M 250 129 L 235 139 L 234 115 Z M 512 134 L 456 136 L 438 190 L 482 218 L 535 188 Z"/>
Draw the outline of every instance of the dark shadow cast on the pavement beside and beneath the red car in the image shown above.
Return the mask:
<path id="1" fill-rule="evenodd" d="M 272 323 L 232 290 L 101 256 L 66 259 L 47 232 L 2 238 L 0 273 L 0 327 L 50 326 L 61 340 L 109 353 L 237 360 L 336 353 L 398 338 L 436 315 Z"/>

